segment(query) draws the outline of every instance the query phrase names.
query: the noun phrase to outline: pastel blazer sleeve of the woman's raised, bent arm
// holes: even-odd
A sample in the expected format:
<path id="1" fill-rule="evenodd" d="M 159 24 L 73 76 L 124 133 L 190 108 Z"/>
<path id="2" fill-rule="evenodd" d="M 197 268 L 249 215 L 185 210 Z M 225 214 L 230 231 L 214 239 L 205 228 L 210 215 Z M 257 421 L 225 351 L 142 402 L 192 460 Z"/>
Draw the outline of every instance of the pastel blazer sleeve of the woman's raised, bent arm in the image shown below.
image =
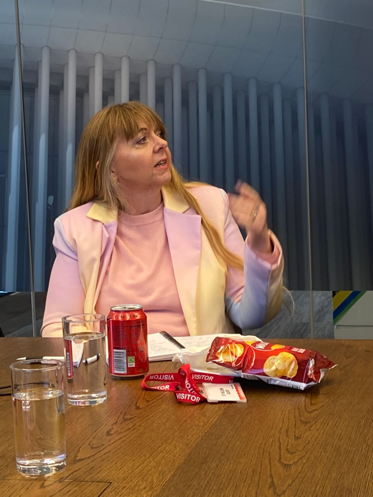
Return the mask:
<path id="1" fill-rule="evenodd" d="M 225 308 L 229 319 L 242 330 L 254 330 L 271 321 L 282 305 L 283 255 L 280 242 L 270 231 L 273 254 L 261 256 L 244 241 L 225 200 L 224 243 L 231 252 L 243 256 L 244 273 L 227 268 Z"/>

